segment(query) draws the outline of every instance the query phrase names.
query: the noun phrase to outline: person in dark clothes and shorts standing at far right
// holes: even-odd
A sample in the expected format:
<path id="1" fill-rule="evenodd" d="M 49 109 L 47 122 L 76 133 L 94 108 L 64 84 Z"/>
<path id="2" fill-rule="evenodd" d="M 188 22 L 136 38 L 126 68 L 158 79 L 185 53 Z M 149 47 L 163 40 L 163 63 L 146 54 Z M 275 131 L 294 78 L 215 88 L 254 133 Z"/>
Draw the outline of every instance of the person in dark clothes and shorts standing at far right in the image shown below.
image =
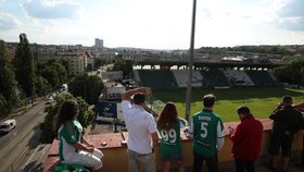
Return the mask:
<path id="1" fill-rule="evenodd" d="M 286 171 L 291 156 L 293 135 L 301 128 L 302 113 L 292 106 L 292 97 L 284 96 L 282 102 L 270 114 L 274 120 L 270 134 L 269 155 L 271 156 L 271 168 L 278 169 L 279 149 L 282 149 L 283 164 L 280 171 Z"/>

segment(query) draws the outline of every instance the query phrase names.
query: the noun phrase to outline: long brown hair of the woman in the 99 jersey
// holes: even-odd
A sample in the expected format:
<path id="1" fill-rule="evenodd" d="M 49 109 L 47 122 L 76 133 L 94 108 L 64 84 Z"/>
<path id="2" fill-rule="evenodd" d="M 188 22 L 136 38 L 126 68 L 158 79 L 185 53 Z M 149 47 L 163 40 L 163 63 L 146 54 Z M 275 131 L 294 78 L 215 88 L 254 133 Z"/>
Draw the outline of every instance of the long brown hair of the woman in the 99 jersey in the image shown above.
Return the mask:
<path id="1" fill-rule="evenodd" d="M 175 127 L 178 121 L 178 113 L 176 106 L 173 102 L 167 102 L 160 114 L 157 126 L 161 130 L 170 130 Z"/>

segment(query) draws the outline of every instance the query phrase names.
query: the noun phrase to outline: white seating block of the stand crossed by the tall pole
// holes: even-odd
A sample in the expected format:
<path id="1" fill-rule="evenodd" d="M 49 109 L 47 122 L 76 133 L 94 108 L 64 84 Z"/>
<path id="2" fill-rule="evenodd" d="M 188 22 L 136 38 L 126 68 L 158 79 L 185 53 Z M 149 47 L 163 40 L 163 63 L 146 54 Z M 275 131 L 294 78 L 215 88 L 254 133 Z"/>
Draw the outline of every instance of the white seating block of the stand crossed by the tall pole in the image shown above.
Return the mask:
<path id="1" fill-rule="evenodd" d="M 188 70 L 172 70 L 179 88 L 188 86 Z M 199 71 L 192 73 L 192 86 L 202 87 L 203 76 Z"/>

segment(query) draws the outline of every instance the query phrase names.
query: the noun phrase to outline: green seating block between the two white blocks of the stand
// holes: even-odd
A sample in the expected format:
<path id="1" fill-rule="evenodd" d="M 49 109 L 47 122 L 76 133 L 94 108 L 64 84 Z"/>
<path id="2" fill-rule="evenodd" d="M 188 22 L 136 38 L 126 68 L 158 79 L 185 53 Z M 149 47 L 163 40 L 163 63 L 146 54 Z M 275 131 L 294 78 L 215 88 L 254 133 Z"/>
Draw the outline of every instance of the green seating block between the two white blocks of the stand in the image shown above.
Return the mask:
<path id="1" fill-rule="evenodd" d="M 203 76 L 204 85 L 207 88 L 230 87 L 227 77 L 220 70 L 217 69 L 203 70 L 201 71 L 201 74 Z"/>

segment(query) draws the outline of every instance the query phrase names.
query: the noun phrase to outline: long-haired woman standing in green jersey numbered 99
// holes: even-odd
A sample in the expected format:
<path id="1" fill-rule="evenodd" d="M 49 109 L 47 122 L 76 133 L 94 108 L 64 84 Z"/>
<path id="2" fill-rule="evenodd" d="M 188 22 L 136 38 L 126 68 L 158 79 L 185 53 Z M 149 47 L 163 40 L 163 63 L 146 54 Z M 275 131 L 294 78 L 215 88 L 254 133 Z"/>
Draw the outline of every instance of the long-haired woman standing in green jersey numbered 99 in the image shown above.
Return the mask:
<path id="1" fill-rule="evenodd" d="M 182 149 L 180 139 L 180 120 L 176 106 L 167 102 L 157 120 L 157 128 L 162 136 L 160 150 L 164 161 L 163 172 L 169 172 L 170 162 L 177 161 L 178 171 L 183 172 Z"/>

